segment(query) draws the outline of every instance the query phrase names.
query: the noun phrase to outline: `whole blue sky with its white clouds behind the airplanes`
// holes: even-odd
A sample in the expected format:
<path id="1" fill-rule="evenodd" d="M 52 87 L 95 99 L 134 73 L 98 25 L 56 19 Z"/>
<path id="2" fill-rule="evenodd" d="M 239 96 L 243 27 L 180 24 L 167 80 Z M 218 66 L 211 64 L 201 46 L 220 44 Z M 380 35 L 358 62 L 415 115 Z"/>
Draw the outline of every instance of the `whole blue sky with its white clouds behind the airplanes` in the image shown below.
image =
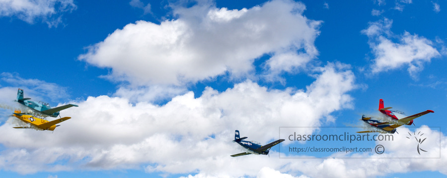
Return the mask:
<path id="1" fill-rule="evenodd" d="M 51 106 L 79 105 L 61 112 L 73 119 L 54 134 L 14 130 L 10 110 L 3 107 L 0 175 L 324 177 L 318 173 L 331 173 L 324 165 L 333 160 L 227 158 L 239 151 L 230 142 L 232 133 L 239 129 L 265 143 L 278 139 L 280 126 L 360 124 L 363 114 L 379 115 L 379 99 L 410 115 L 435 111 L 414 123 L 441 127 L 444 135 L 446 5 L 445 0 L 0 2 L 1 106 L 15 106 L 17 88 Z M 45 141 L 37 144 L 37 138 Z M 152 144 L 157 142 L 164 144 Z M 415 160 L 393 160 L 389 167 L 409 163 L 386 171 L 347 160 L 333 169 L 368 178 L 447 174 L 445 156 L 432 168 L 415 169 Z M 246 164 L 251 166 L 234 168 Z M 304 164 L 323 166 L 294 169 Z"/>

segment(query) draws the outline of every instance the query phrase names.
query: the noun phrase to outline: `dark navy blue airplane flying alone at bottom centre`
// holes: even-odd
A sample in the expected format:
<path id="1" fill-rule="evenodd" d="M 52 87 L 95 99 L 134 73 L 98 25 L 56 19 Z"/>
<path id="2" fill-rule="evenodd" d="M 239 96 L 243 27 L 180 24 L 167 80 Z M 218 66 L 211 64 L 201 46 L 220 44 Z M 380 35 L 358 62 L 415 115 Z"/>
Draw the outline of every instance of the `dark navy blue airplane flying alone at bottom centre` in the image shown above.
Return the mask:
<path id="1" fill-rule="evenodd" d="M 239 138 L 239 130 L 236 130 L 236 132 L 234 133 L 233 141 L 238 143 L 240 146 L 244 147 L 245 149 L 247 149 L 247 151 L 239 153 L 239 154 L 231 155 L 231 157 L 244 156 L 244 155 L 249 155 L 249 154 L 268 155 L 270 148 L 272 148 L 273 146 L 275 146 L 285 140 L 285 139 L 279 139 L 272 143 L 262 146 L 261 143 L 256 142 L 256 141 L 245 141 L 244 139 L 246 139 L 246 138 L 247 137 Z"/>

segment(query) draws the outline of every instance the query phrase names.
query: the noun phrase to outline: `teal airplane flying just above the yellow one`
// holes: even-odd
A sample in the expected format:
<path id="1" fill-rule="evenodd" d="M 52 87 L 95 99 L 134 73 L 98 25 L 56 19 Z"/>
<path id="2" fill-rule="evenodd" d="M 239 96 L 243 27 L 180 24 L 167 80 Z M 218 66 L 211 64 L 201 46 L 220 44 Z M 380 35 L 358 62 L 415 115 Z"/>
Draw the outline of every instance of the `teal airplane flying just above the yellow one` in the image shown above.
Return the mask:
<path id="1" fill-rule="evenodd" d="M 30 99 L 31 98 L 23 98 L 23 90 L 19 88 L 17 90 L 17 100 L 14 100 L 14 101 L 31 108 L 32 110 L 34 110 L 35 112 L 39 113 L 42 116 L 50 116 L 53 118 L 58 117 L 59 111 L 61 111 L 61 110 L 65 110 L 67 108 L 74 107 L 74 106 L 77 107 L 77 105 L 68 104 L 68 105 L 57 107 L 57 108 L 51 108 L 48 103 L 44 103 L 44 102 L 40 102 L 40 101 L 37 103 L 34 101 L 28 101 Z M 22 114 L 26 114 L 26 113 L 22 113 Z"/>

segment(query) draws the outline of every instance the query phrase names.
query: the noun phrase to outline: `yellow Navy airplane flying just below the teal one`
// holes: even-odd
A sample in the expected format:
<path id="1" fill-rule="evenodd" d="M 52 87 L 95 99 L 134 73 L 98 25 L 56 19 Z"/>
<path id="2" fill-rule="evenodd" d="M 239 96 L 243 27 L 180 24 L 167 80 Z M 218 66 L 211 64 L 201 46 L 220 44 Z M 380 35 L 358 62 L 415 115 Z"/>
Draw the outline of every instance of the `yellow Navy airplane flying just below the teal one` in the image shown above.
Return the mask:
<path id="1" fill-rule="evenodd" d="M 13 128 L 34 128 L 34 129 L 38 129 L 38 130 L 52 130 L 52 131 L 54 131 L 54 129 L 57 126 L 60 126 L 60 125 L 56 125 L 56 124 L 70 119 L 70 117 L 65 117 L 65 118 L 61 118 L 61 119 L 48 121 L 48 120 L 40 119 L 40 118 L 31 116 L 31 115 L 24 115 L 23 113 L 21 113 L 21 111 L 17 111 L 17 110 L 14 111 L 13 116 L 22 120 L 25 123 L 31 124 L 30 127 L 13 127 Z"/>

